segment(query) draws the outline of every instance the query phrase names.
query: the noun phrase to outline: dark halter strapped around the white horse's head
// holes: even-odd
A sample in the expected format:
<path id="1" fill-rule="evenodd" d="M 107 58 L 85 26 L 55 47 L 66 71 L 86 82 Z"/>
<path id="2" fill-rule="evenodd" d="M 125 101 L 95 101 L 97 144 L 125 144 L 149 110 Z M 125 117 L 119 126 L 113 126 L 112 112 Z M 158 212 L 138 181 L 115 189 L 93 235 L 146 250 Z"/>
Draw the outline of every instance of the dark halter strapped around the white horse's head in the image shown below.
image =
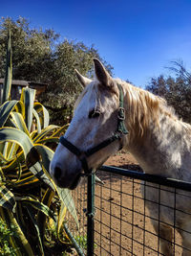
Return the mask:
<path id="1" fill-rule="evenodd" d="M 92 173 L 92 170 L 88 167 L 87 157 L 91 156 L 92 154 L 96 153 L 96 151 L 100 151 L 101 149 L 107 147 L 111 143 L 113 143 L 116 140 L 120 140 L 122 135 L 128 134 L 128 130 L 125 128 L 124 120 L 125 120 L 125 110 L 124 110 L 124 103 L 123 103 L 123 91 L 122 86 L 120 84 L 117 84 L 118 90 L 119 90 L 119 108 L 118 108 L 118 115 L 117 115 L 117 131 L 115 134 L 108 139 L 102 141 L 95 147 L 87 150 L 87 151 L 80 151 L 77 149 L 74 144 L 72 144 L 70 141 L 68 141 L 64 136 L 60 137 L 59 142 L 66 147 L 69 151 L 73 152 L 78 159 L 81 161 L 82 168 L 84 170 L 85 175 L 90 175 Z M 122 145 L 120 145 L 119 150 L 122 148 Z"/>

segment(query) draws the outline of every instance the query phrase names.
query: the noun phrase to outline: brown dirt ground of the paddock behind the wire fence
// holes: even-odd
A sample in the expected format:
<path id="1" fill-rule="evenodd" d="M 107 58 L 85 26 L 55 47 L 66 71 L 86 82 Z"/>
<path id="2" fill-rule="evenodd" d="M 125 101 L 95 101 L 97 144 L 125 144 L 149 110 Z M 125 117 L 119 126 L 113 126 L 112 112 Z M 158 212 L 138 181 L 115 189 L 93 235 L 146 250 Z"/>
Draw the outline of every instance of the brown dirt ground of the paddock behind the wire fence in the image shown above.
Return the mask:
<path id="1" fill-rule="evenodd" d="M 142 172 L 136 159 L 124 151 L 110 157 L 105 165 Z M 97 171 L 96 175 L 104 184 L 96 185 L 95 255 L 161 255 L 159 238 L 140 193 L 140 181 L 101 171 Z M 76 195 L 77 203 L 86 203 L 80 192 Z M 80 207 L 78 213 L 81 216 L 86 206 Z M 82 219 L 82 226 L 87 226 L 85 218 Z M 174 238 L 174 255 L 178 256 L 181 242 L 175 231 Z"/>

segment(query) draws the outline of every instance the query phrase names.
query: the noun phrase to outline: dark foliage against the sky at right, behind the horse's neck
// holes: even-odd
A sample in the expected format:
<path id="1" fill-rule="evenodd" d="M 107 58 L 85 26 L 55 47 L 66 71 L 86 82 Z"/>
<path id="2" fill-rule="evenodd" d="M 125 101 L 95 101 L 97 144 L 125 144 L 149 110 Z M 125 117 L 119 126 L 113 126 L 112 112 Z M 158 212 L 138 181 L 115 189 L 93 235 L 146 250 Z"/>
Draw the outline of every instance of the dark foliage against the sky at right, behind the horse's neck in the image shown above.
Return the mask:
<path id="1" fill-rule="evenodd" d="M 146 89 L 165 98 L 183 121 L 191 123 L 191 73 L 180 61 L 173 61 L 170 70 L 175 73 L 175 77 L 153 78 Z"/>

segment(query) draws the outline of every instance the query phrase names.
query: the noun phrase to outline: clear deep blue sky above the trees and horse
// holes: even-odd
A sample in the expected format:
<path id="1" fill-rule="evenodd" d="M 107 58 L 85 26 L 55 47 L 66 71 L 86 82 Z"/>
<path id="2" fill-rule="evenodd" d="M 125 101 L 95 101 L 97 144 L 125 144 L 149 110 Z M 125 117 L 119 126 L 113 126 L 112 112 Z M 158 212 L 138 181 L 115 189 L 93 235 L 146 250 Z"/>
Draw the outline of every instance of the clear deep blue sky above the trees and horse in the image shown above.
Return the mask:
<path id="1" fill-rule="evenodd" d="M 95 45 L 115 77 L 144 86 L 182 59 L 191 67 L 191 0 L 1 0 L 0 16 L 28 18 Z"/>

